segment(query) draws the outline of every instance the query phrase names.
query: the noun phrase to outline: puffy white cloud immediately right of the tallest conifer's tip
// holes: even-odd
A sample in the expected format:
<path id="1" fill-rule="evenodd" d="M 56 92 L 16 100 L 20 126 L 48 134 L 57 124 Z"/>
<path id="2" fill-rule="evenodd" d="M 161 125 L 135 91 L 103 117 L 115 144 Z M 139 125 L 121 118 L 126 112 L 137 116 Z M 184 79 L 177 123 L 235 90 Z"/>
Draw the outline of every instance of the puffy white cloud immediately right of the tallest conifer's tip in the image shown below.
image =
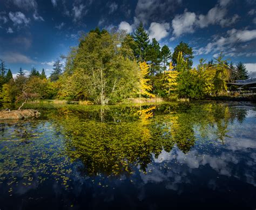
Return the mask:
<path id="1" fill-rule="evenodd" d="M 169 34 L 168 30 L 170 30 L 169 23 L 153 22 L 150 24 L 150 27 L 149 27 L 149 38 L 150 40 L 155 38 L 157 41 L 159 41 L 168 36 Z"/>

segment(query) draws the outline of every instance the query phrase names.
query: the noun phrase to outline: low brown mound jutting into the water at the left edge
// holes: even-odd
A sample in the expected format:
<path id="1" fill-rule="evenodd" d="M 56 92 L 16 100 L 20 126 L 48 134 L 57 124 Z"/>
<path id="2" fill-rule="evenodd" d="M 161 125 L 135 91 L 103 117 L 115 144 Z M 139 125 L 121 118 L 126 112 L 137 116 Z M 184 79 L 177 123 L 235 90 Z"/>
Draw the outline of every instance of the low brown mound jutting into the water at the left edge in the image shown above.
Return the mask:
<path id="1" fill-rule="evenodd" d="M 22 120 L 30 117 L 38 117 L 41 113 L 34 109 L 21 111 L 0 111 L 0 120 Z"/>

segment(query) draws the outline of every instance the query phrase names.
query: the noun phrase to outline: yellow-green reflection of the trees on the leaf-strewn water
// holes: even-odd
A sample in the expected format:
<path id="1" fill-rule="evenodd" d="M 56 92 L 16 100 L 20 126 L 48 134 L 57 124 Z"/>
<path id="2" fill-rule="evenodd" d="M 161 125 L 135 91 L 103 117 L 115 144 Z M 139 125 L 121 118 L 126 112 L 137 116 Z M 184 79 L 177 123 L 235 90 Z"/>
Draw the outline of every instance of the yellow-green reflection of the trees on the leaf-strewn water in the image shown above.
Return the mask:
<path id="1" fill-rule="evenodd" d="M 224 103 L 177 103 L 100 109 L 94 116 L 96 120 L 80 117 L 77 112 L 63 116 L 60 121 L 68 135 L 66 152 L 73 161 L 83 163 L 80 171 L 85 174 L 117 176 L 132 173 L 136 166 L 145 171 L 152 154 L 158 157 L 163 149 L 170 152 L 174 145 L 186 153 L 197 138 L 212 140 L 214 136 L 224 144 L 228 123 L 241 122 L 246 114 Z"/>

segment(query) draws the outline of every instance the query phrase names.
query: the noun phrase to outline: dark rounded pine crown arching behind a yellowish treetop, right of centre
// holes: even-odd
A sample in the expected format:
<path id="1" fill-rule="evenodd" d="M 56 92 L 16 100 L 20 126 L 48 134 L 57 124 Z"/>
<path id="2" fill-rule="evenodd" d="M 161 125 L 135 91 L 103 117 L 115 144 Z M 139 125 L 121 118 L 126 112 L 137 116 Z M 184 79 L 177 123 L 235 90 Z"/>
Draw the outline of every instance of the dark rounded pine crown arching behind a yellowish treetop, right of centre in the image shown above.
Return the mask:
<path id="1" fill-rule="evenodd" d="M 178 55 L 179 52 L 183 53 L 183 58 L 187 61 L 188 68 L 191 68 L 193 65 L 192 59 L 193 57 L 193 51 L 192 47 L 189 47 L 188 44 L 183 43 L 182 41 L 174 48 L 174 52 L 172 54 L 172 62 L 174 65 L 177 65 Z"/>

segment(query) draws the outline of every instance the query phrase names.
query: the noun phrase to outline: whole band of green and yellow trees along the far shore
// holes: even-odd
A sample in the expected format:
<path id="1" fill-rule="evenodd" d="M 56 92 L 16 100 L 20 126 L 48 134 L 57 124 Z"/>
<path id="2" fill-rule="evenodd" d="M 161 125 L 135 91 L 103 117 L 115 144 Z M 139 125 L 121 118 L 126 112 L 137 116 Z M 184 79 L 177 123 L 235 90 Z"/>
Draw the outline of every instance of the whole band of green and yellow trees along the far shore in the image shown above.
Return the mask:
<path id="1" fill-rule="evenodd" d="M 227 82 L 248 79 L 244 64 L 228 64 L 218 58 L 201 59 L 193 65 L 193 51 L 181 43 L 171 53 L 149 39 L 143 24 L 133 34 L 126 31 L 100 30 L 98 27 L 80 37 L 79 45 L 65 57 L 58 58 L 46 78 L 44 69 L 32 67 L 26 76 L 20 68 L 12 77 L 0 60 L 1 100 L 33 99 L 87 100 L 95 104 L 114 104 L 127 98 L 162 97 L 165 99 L 204 99 L 227 90 Z"/>

